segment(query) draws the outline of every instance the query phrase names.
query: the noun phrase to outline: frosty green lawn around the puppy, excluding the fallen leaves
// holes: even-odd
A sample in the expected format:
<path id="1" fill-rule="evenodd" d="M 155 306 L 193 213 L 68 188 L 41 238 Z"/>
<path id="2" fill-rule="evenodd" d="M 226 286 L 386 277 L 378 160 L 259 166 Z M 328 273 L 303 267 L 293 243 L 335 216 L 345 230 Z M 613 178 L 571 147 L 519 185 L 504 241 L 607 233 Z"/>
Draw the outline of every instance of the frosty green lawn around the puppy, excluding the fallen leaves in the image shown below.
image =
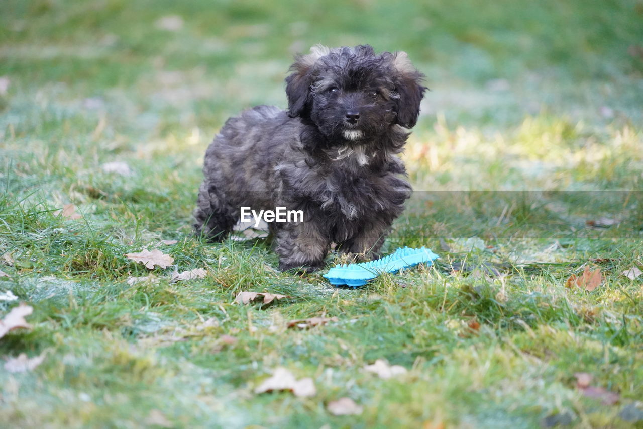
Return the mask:
<path id="1" fill-rule="evenodd" d="M 0 355 L 46 359 L 0 371 L 1 425 L 641 427 L 621 413 L 643 397 L 643 290 L 622 274 L 643 268 L 642 14 L 625 0 L 3 1 L 0 292 L 34 310 Z M 182 25 L 159 28 L 170 15 Z M 316 43 L 405 50 L 426 73 L 404 154 L 415 194 L 386 249 L 426 245 L 434 266 L 334 289 L 276 271 L 264 240 L 192 236 L 208 142 L 243 108 L 284 107 L 291 57 Z M 102 169 L 116 161 L 132 175 Z M 57 216 L 65 204 L 82 218 Z M 161 239 L 177 240 L 160 247 L 175 265 L 129 285 L 149 270 L 124 255 Z M 567 289 L 585 265 L 599 288 Z M 208 276 L 168 281 L 197 267 Z M 242 306 L 240 291 L 289 298 Z M 338 321 L 287 328 L 322 315 Z M 363 371 L 380 358 L 408 373 Z M 255 395 L 278 366 L 317 394 Z M 619 403 L 583 396 L 576 372 Z M 363 414 L 331 415 L 344 396 Z"/>

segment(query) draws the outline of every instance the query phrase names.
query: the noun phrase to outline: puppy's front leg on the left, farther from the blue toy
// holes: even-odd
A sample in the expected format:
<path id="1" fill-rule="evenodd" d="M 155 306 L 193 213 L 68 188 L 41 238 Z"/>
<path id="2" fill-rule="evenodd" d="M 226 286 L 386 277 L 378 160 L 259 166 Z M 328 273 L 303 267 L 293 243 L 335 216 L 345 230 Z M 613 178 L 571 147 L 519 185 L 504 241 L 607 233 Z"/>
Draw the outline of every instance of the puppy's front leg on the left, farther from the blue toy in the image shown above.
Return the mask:
<path id="1" fill-rule="evenodd" d="M 323 267 L 331 243 L 315 222 L 278 225 L 275 240 L 280 271 L 297 268 L 300 272 L 312 272 Z"/>

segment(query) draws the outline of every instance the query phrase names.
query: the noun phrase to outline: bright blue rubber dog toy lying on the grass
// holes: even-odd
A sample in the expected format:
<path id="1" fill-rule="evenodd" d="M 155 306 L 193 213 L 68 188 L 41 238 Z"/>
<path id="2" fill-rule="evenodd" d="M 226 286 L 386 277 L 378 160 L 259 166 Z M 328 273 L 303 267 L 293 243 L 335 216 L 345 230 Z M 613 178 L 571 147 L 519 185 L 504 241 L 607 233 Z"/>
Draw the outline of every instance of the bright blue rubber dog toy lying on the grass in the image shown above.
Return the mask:
<path id="1" fill-rule="evenodd" d="M 431 263 L 437 254 L 426 247 L 412 249 L 404 247 L 395 253 L 371 262 L 348 263 L 332 267 L 326 274 L 331 285 L 348 285 L 356 288 L 365 285 L 383 272 L 396 272 L 403 268 L 413 267 L 419 263 Z"/>

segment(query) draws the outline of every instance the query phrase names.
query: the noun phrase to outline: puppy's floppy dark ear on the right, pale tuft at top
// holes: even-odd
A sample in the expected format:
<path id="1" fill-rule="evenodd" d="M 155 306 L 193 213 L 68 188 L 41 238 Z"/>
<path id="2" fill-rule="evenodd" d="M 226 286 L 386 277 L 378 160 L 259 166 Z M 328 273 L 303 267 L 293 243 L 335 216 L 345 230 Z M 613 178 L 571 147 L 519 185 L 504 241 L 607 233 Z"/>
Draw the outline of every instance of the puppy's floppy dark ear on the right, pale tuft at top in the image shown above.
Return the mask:
<path id="1" fill-rule="evenodd" d="M 413 128 L 420 115 L 420 102 L 424 97 L 426 86 L 422 86 L 424 75 L 418 72 L 406 52 L 396 52 L 390 57 L 394 70 L 397 99 L 397 124 L 404 128 Z"/>

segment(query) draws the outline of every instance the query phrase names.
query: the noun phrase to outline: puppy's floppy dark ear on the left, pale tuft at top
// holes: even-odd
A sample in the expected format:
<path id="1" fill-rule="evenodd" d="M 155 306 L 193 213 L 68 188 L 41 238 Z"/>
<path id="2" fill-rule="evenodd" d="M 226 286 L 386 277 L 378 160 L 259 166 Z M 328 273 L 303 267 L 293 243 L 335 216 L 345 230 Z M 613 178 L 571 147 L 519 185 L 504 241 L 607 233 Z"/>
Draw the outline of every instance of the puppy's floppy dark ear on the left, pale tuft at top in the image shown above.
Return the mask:
<path id="1" fill-rule="evenodd" d="M 290 66 L 293 72 L 285 78 L 285 95 L 288 97 L 288 115 L 291 118 L 301 116 L 311 97 L 312 73 L 314 64 L 330 52 L 329 48 L 318 44 L 312 46 L 308 55 L 297 55 Z"/>

